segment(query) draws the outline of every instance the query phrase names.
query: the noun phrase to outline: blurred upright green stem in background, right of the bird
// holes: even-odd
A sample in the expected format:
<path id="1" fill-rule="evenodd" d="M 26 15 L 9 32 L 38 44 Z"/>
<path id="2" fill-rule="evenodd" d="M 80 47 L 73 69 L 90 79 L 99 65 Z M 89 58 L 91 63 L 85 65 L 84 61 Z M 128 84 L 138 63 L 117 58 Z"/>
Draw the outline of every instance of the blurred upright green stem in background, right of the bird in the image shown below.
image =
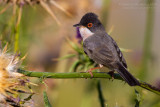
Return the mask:
<path id="1" fill-rule="evenodd" d="M 140 78 L 145 79 L 148 75 L 148 63 L 151 58 L 151 46 L 152 46 L 152 34 L 154 25 L 154 7 L 150 7 L 154 3 L 154 0 L 147 0 L 147 19 L 146 19 L 146 29 L 143 47 L 143 58 L 142 58 L 142 68 L 140 73 Z M 151 5 L 152 6 L 152 5 Z"/>

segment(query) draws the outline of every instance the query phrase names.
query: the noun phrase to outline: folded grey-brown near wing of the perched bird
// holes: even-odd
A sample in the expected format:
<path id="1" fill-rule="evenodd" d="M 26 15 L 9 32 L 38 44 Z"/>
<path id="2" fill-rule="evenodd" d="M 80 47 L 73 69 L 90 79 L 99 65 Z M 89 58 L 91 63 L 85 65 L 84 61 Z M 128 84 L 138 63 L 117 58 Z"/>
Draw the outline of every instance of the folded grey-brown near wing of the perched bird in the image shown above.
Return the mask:
<path id="1" fill-rule="evenodd" d="M 85 41 L 83 46 L 84 51 L 98 64 L 107 66 L 115 61 L 115 56 L 112 51 L 110 51 L 109 47 L 98 39 L 99 38 L 96 38 L 94 40 L 94 38 L 92 38 L 92 42 L 89 42 L 89 39 L 89 41 Z"/>

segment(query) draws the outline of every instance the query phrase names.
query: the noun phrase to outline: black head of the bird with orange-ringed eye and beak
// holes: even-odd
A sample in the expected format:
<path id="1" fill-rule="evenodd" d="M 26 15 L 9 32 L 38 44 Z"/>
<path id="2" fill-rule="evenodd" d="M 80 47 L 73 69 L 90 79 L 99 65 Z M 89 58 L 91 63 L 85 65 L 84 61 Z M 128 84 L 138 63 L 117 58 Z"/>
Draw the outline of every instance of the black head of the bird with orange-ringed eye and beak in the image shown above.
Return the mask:
<path id="1" fill-rule="evenodd" d="M 98 16 L 94 13 L 87 13 L 85 14 L 78 24 L 73 25 L 74 27 L 77 26 L 84 26 L 88 28 L 91 32 L 95 33 L 96 31 L 105 31 L 103 25 L 98 19 Z"/>

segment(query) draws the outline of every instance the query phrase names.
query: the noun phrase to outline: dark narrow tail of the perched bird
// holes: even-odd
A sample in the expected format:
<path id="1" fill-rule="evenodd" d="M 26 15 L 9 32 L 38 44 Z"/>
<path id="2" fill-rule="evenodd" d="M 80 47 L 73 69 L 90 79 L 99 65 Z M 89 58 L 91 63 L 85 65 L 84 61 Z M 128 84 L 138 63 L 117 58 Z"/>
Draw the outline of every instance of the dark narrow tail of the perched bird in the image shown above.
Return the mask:
<path id="1" fill-rule="evenodd" d="M 117 72 L 130 86 L 140 85 L 139 81 L 134 78 L 122 64 L 118 64 Z"/>

